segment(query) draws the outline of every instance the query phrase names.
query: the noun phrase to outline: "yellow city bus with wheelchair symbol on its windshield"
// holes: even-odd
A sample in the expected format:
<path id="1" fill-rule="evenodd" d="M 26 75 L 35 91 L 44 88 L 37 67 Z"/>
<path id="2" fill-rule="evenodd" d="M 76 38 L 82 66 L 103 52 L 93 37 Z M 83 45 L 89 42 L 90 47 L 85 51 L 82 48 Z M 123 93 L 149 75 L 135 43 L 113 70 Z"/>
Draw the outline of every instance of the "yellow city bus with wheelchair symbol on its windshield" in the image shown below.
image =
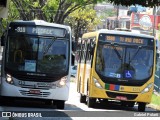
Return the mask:
<path id="1" fill-rule="evenodd" d="M 85 33 L 78 51 L 77 92 L 80 102 L 115 100 L 145 111 L 154 86 L 154 37 L 102 29 Z"/>

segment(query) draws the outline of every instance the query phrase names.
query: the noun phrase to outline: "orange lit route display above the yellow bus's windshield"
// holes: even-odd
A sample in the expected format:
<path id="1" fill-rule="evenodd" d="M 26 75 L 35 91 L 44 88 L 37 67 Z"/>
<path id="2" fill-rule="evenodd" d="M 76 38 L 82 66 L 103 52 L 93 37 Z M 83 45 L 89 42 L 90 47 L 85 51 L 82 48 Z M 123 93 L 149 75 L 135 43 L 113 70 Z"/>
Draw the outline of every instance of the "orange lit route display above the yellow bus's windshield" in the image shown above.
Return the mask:
<path id="1" fill-rule="evenodd" d="M 131 43 L 131 44 L 145 44 L 144 39 L 134 38 L 134 37 L 122 37 L 122 36 L 106 36 L 106 41 L 110 42 L 121 42 L 121 43 Z"/>

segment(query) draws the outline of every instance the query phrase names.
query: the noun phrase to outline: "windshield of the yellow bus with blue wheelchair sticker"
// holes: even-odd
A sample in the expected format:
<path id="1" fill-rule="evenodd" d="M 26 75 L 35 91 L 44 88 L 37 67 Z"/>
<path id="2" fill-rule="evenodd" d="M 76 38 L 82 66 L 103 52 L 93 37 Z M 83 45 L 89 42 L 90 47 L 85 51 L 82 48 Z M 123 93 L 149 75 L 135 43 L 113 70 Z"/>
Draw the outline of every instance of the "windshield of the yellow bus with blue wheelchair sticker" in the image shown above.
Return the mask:
<path id="1" fill-rule="evenodd" d="M 153 47 L 98 43 L 96 71 L 109 78 L 145 80 L 152 75 Z"/>

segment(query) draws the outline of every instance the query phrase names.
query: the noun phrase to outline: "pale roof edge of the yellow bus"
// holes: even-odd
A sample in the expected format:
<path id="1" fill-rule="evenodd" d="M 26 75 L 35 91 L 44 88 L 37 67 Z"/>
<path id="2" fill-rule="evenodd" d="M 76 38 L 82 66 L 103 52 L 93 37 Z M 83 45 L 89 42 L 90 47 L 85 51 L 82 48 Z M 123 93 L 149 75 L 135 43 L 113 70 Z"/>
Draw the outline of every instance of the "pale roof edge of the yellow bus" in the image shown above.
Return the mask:
<path id="1" fill-rule="evenodd" d="M 124 35 L 124 36 L 135 36 L 135 37 L 145 37 L 145 38 L 151 38 L 151 39 L 154 38 L 153 36 L 146 35 L 146 34 L 138 34 L 138 33 L 129 32 L 129 31 L 117 31 L 117 30 L 108 30 L 108 29 L 100 29 L 95 32 L 85 33 L 85 34 L 83 34 L 82 38 L 95 37 L 100 33 Z"/>

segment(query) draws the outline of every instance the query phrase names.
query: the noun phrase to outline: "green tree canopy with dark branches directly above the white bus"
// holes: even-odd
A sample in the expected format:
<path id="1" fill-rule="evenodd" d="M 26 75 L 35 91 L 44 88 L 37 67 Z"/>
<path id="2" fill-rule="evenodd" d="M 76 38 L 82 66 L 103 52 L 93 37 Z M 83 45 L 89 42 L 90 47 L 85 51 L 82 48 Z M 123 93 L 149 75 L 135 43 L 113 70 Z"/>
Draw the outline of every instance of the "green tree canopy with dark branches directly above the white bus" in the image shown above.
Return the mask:
<path id="1" fill-rule="evenodd" d="M 23 20 L 42 19 L 63 24 L 70 13 L 105 0 L 12 0 Z"/>

